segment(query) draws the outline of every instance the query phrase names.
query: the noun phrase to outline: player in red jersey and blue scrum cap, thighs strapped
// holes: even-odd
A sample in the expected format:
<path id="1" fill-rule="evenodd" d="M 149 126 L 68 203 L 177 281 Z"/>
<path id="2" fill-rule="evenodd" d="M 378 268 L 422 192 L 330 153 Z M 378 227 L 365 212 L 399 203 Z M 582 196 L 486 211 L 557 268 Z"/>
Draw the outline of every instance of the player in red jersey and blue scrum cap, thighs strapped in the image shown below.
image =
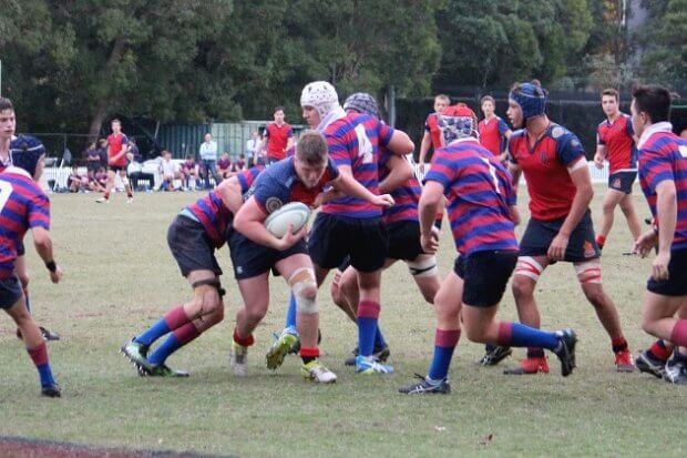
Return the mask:
<path id="1" fill-rule="evenodd" d="M 516 83 L 509 94 L 506 112 L 515 128 L 509 141 L 514 183 L 521 173 L 527 182 L 532 217 L 520 242 L 520 258 L 512 289 L 520 322 L 540 327 L 534 288 L 544 269 L 558 261 L 573 263 L 577 282 L 611 337 L 618 372 L 634 365 L 623 336 L 618 311 L 602 286 L 601 252 L 594 237 L 589 202 L 594 189 L 580 140 L 545 114 L 546 91 L 539 82 Z M 496 352 L 504 354 L 502 348 Z M 489 355 L 488 355 L 489 356 Z M 499 358 L 484 358 L 498 363 Z M 506 374 L 547 373 L 544 352 L 527 348 L 527 357 Z"/>

